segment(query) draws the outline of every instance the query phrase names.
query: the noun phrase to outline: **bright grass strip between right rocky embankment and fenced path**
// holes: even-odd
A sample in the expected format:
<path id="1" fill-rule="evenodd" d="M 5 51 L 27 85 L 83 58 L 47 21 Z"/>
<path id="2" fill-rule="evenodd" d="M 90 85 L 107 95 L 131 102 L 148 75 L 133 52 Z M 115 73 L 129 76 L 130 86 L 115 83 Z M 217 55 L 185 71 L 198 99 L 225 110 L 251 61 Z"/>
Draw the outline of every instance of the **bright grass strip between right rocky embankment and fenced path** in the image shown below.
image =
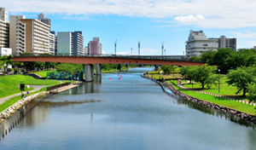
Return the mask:
<path id="1" fill-rule="evenodd" d="M 168 83 L 170 83 L 171 81 L 168 81 Z M 223 107 L 229 107 L 238 111 L 241 111 L 243 113 L 250 113 L 253 115 L 256 115 L 255 113 L 255 109 L 253 106 L 245 104 L 245 103 L 241 103 L 238 101 L 232 101 L 232 100 L 226 100 L 224 98 L 221 97 L 216 97 L 213 95 L 204 95 L 204 94 L 200 94 L 197 93 L 195 91 L 191 91 L 191 90 L 186 90 L 186 89 L 179 89 L 177 86 L 173 85 L 176 89 L 180 90 L 181 92 L 183 92 L 186 95 L 191 95 L 195 98 L 201 99 L 203 101 L 209 101 L 212 102 L 214 104 L 218 104 L 220 106 Z"/>

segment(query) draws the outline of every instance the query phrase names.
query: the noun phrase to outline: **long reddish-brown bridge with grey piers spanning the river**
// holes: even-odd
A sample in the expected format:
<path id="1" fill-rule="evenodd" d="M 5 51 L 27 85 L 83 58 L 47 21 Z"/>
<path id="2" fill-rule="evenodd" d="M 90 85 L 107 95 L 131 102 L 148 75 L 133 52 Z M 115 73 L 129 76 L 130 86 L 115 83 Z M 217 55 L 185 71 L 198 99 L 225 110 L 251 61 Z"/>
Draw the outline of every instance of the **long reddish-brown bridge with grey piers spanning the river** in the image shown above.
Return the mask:
<path id="1" fill-rule="evenodd" d="M 13 61 L 64 62 L 84 64 L 85 81 L 93 80 L 94 66 L 96 74 L 101 74 L 101 64 L 141 64 L 170 66 L 201 66 L 206 62 L 188 61 L 183 55 L 14 55 Z"/>

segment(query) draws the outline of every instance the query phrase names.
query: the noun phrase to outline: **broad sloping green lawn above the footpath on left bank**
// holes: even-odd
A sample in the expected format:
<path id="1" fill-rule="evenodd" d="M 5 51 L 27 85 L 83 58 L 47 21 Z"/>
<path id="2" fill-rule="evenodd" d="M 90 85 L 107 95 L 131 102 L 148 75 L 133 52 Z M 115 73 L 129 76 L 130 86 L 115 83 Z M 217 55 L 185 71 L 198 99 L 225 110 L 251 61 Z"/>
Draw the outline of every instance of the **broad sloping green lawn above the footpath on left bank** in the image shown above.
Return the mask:
<path id="1" fill-rule="evenodd" d="M 54 85 L 60 84 L 60 81 L 40 80 L 23 75 L 0 76 L 0 98 L 20 93 L 20 84 Z"/>

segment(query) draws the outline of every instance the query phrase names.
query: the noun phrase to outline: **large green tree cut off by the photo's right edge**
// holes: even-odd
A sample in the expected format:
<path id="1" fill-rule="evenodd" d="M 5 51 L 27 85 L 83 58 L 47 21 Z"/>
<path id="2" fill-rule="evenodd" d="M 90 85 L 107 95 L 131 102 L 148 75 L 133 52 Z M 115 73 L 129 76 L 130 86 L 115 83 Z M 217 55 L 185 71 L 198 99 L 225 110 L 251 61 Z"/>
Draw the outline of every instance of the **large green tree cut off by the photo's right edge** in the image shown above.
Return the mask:
<path id="1" fill-rule="evenodd" d="M 238 89 L 236 94 L 240 93 L 242 90 L 242 95 L 245 96 L 247 93 L 248 84 L 255 83 L 256 69 L 254 66 L 241 66 L 237 67 L 236 70 L 230 70 L 227 74 L 228 81 L 226 82 L 229 85 L 236 86 Z"/>

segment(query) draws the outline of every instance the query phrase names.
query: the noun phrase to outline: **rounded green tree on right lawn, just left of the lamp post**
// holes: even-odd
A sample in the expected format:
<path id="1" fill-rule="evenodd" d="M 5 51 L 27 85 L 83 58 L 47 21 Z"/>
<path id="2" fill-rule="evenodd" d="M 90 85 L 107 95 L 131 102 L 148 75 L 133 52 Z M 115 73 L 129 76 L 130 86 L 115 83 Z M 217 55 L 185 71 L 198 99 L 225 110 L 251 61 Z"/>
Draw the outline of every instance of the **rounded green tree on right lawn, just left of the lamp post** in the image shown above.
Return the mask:
<path id="1" fill-rule="evenodd" d="M 205 85 L 207 85 L 207 88 L 211 88 L 212 84 L 216 84 L 218 81 L 218 77 L 215 74 L 217 70 L 217 66 L 193 66 L 194 67 L 194 75 L 193 79 L 195 82 L 200 82 L 202 89 L 205 88 Z"/>

